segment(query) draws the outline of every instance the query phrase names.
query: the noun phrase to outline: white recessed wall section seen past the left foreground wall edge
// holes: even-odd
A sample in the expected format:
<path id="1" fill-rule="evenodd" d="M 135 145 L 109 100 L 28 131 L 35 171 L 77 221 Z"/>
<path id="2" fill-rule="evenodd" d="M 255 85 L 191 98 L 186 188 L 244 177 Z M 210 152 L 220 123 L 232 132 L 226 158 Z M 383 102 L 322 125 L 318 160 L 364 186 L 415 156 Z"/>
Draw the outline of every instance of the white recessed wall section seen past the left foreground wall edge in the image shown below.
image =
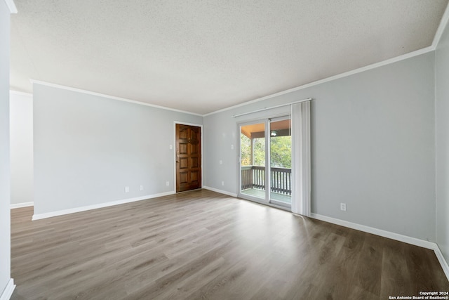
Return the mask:
<path id="1" fill-rule="evenodd" d="M 11 204 L 33 201 L 33 98 L 10 93 Z"/>

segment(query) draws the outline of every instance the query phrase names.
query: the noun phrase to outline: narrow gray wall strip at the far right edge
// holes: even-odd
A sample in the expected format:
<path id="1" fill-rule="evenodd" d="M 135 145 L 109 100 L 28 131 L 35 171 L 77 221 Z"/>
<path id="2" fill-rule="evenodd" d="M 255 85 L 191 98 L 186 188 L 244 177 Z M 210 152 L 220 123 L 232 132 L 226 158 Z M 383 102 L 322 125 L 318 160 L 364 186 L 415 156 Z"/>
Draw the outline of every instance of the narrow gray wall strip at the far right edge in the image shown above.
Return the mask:
<path id="1" fill-rule="evenodd" d="M 449 262 L 449 26 L 435 54 L 436 242 Z"/>

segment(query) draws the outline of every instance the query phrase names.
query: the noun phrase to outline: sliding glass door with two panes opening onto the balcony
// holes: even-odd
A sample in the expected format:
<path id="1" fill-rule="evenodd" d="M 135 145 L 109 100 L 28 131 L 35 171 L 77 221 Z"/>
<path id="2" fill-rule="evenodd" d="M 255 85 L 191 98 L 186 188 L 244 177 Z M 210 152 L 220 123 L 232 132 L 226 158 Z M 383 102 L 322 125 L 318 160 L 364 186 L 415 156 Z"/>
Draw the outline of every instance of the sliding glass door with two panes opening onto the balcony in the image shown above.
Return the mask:
<path id="1" fill-rule="evenodd" d="M 290 208 L 290 117 L 240 124 L 239 133 L 239 197 Z"/>

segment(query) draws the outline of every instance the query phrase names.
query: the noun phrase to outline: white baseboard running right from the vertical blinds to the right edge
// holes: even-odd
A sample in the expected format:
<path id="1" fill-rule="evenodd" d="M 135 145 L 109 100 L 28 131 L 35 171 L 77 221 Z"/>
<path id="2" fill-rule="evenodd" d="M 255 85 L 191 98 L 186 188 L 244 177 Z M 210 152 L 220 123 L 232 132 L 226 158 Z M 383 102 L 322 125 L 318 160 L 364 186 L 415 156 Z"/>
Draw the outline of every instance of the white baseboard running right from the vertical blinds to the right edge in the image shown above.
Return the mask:
<path id="1" fill-rule="evenodd" d="M 440 248 L 438 247 L 438 244 L 434 243 L 434 242 L 429 242 L 427 240 L 420 240 L 417 239 L 415 237 L 409 237 L 407 235 L 400 235 L 398 233 L 391 233 L 389 231 L 386 230 L 382 230 L 382 229 L 377 229 L 377 228 L 373 228 L 370 226 L 364 226 L 364 225 L 360 225 L 357 223 L 351 223 L 348 221 L 343 221 L 340 219 L 334 219 L 331 218 L 330 216 L 322 216 L 321 214 L 311 214 L 311 218 L 317 219 L 317 220 L 321 220 L 321 221 L 325 221 L 328 223 L 333 223 L 333 224 L 337 224 L 340 226 L 344 226 L 344 227 L 348 227 L 348 228 L 352 228 L 355 230 L 360 230 L 363 231 L 365 233 L 372 233 L 373 235 L 380 235 L 381 237 L 387 237 L 391 240 L 398 240 L 399 242 L 406 242 L 407 244 L 414 244 L 415 246 L 419 246 L 419 247 L 423 247 L 423 248 L 427 248 L 427 249 L 431 249 L 434 250 L 436 258 L 438 259 L 438 261 L 440 262 L 441 268 L 443 268 L 443 271 L 446 275 L 446 278 L 448 278 L 449 280 L 449 266 L 448 266 L 448 262 L 445 261 L 443 254 L 441 253 Z"/>

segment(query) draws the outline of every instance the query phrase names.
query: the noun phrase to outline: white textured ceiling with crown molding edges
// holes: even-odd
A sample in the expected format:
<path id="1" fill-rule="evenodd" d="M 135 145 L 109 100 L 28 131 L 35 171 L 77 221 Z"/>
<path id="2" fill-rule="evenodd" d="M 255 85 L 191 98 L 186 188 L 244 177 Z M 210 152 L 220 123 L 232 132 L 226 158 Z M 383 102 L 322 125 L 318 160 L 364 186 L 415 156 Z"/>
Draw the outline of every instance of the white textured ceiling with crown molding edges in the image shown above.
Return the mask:
<path id="1" fill-rule="evenodd" d="M 448 0 L 15 0 L 29 79 L 205 114 L 431 46 Z"/>

